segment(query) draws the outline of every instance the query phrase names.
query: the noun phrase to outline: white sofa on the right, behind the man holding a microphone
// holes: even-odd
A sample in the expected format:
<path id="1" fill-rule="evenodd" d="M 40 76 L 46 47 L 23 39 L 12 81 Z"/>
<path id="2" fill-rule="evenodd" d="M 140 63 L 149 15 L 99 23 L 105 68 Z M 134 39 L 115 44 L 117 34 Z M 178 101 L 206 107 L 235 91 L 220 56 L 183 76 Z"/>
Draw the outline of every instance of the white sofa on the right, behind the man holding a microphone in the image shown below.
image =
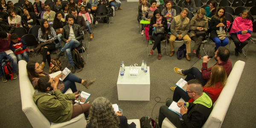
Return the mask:
<path id="1" fill-rule="evenodd" d="M 204 123 L 202 128 L 221 128 L 224 117 L 227 113 L 230 102 L 236 91 L 237 84 L 241 77 L 241 74 L 244 70 L 244 61 L 237 61 L 233 66 L 233 69 L 227 78 L 227 83 L 223 90 L 221 91 L 220 96 L 213 104 L 213 110 L 209 115 L 207 121 Z M 183 99 L 179 101 L 184 102 Z M 165 118 L 163 120 L 162 128 L 176 128 L 169 119 Z"/>

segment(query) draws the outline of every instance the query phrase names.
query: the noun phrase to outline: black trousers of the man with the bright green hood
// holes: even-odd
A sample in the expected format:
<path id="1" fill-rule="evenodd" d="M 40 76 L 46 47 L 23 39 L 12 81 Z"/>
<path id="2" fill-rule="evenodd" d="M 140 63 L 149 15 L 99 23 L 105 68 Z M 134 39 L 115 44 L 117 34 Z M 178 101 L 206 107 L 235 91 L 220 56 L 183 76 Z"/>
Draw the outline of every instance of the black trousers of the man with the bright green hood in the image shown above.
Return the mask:
<path id="1" fill-rule="evenodd" d="M 168 118 L 169 121 L 172 122 L 172 124 L 175 125 L 177 128 L 182 128 L 183 121 L 180 120 L 180 116 L 177 113 L 168 109 L 171 104 L 172 100 L 168 100 L 166 102 L 166 105 L 161 106 L 159 109 L 158 125 L 160 126 L 160 128 L 162 128 L 163 120 L 165 118 Z"/>

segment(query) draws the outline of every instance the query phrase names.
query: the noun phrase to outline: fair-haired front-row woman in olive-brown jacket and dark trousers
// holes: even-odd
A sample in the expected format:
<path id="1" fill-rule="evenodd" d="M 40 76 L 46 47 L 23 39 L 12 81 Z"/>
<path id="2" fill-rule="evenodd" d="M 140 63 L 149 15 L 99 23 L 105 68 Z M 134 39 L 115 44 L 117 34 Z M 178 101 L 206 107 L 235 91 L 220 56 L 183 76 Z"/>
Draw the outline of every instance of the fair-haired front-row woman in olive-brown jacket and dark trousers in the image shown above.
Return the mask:
<path id="1" fill-rule="evenodd" d="M 200 47 L 208 30 L 208 20 L 205 17 L 205 10 L 203 8 L 199 9 L 195 17 L 192 18 L 192 20 L 190 21 L 189 29 L 189 37 L 193 41 L 195 41 L 195 45 L 192 52 L 195 53 L 198 58 L 202 58 L 202 56 L 200 55 Z M 205 35 L 196 36 L 195 33 L 200 31 L 204 31 Z"/>

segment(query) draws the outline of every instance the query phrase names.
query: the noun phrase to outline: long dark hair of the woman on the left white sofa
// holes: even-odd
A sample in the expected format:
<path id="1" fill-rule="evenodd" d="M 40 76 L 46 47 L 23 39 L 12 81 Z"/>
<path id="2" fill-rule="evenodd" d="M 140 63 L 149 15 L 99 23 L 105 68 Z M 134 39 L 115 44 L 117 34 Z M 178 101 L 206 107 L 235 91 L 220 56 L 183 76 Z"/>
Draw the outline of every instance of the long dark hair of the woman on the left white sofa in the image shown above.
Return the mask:
<path id="1" fill-rule="evenodd" d="M 36 61 L 29 61 L 26 65 L 27 73 L 28 73 L 29 80 L 30 80 L 31 83 L 32 83 L 34 78 L 42 77 L 42 76 L 35 73 L 35 64 L 36 63 L 37 63 Z M 43 73 L 43 72 L 41 72 L 41 73 Z"/>

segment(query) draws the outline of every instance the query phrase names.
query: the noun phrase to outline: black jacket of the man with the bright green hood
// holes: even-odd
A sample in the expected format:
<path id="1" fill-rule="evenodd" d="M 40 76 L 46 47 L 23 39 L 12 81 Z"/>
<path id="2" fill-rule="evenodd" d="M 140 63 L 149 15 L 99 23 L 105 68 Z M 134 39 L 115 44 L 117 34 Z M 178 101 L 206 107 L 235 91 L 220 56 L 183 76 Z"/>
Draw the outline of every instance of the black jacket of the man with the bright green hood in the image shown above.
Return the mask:
<path id="1" fill-rule="evenodd" d="M 209 93 L 206 93 L 210 98 Z M 213 105 L 211 108 L 207 108 L 201 104 L 189 103 L 188 112 L 182 115 L 184 123 L 183 128 L 202 128 L 204 123 L 207 121 L 210 113 L 212 112 Z"/>

